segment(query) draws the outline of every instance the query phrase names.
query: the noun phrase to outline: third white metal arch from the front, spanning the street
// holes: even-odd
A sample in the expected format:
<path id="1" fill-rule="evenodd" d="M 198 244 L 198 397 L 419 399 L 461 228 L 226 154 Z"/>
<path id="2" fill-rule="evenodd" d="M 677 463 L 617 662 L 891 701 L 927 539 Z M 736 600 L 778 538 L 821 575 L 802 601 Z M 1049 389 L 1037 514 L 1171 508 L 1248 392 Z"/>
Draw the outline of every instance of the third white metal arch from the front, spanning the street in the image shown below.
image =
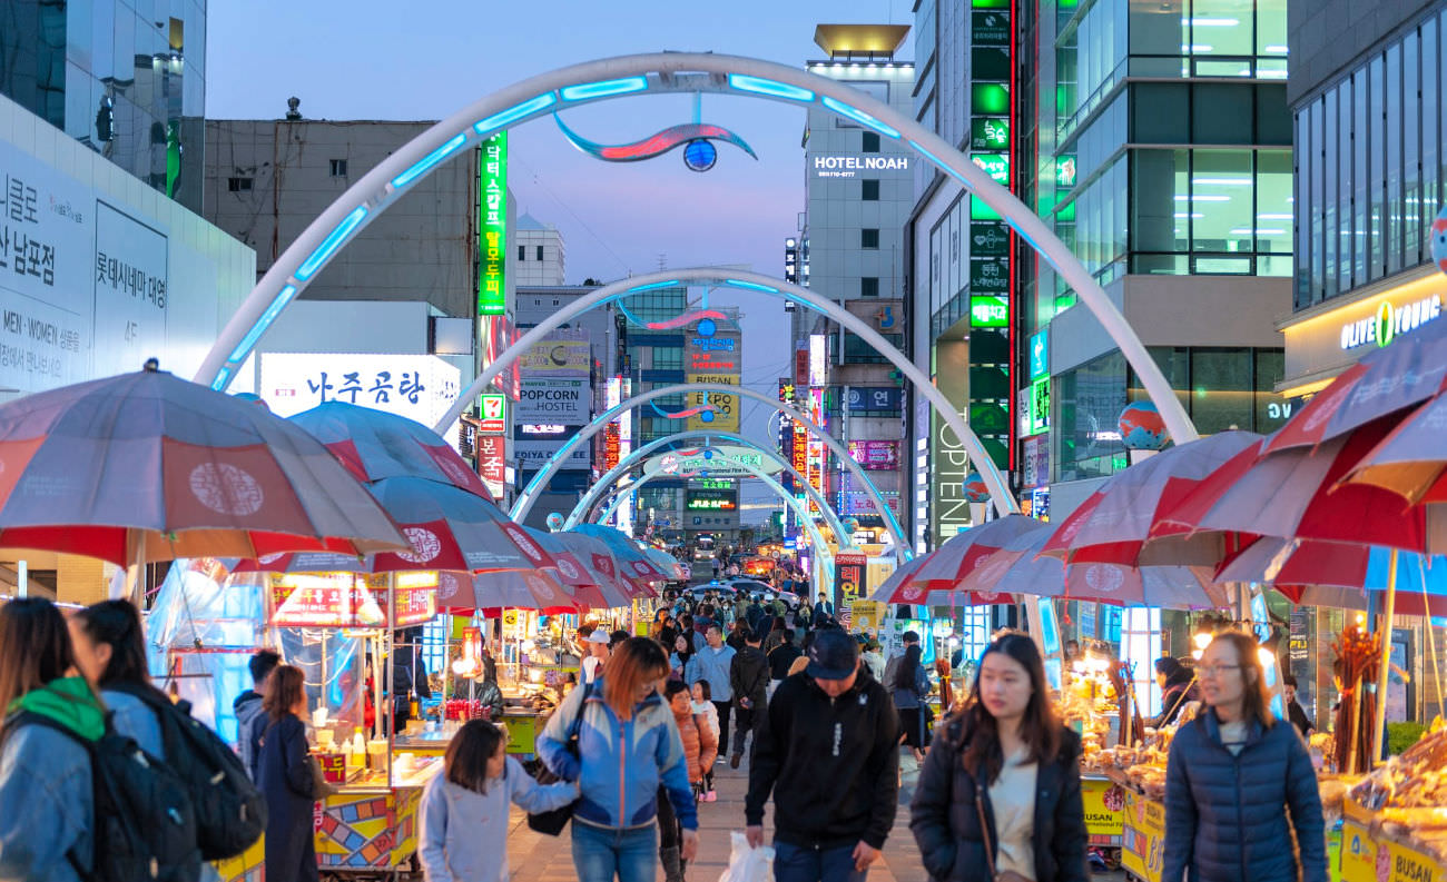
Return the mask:
<path id="1" fill-rule="evenodd" d="M 884 503 L 884 494 L 880 493 L 878 487 L 874 486 L 874 481 L 870 480 L 870 476 L 865 474 L 864 468 L 849 455 L 849 451 L 842 444 L 839 444 L 836 438 L 833 438 L 829 432 L 823 431 L 822 427 L 815 425 L 813 419 L 810 419 L 809 415 L 800 411 L 799 408 L 786 405 L 777 398 L 770 398 L 763 392 L 758 392 L 757 389 L 748 389 L 745 386 L 729 386 L 725 383 L 674 383 L 673 386 L 661 386 L 658 389 L 640 392 L 638 395 L 634 395 L 627 401 L 618 402 L 612 408 L 603 411 L 602 414 L 595 416 L 592 422 L 583 427 L 583 431 L 569 438 L 567 442 L 563 444 L 563 447 L 560 447 L 557 453 L 554 453 L 548 458 L 547 466 L 540 468 L 538 473 L 532 476 L 532 480 L 528 481 L 527 487 L 524 487 L 522 494 L 518 496 L 517 502 L 512 503 L 512 512 L 511 512 L 512 519 L 521 523 L 528 516 L 528 512 L 532 510 L 532 505 L 537 502 L 538 493 L 543 490 L 543 487 L 547 486 L 547 483 L 553 479 L 553 476 L 557 474 L 557 471 L 563 467 L 563 463 L 567 461 L 567 457 L 574 450 L 586 444 L 593 435 L 608 428 L 609 422 L 612 422 L 614 419 L 616 419 L 624 414 L 628 414 L 629 411 L 632 411 L 640 405 L 645 405 L 651 401 L 667 398 L 670 395 L 684 395 L 689 392 L 715 392 L 721 395 L 738 395 L 750 401 L 761 402 L 764 406 L 773 408 L 778 414 L 786 414 L 796 422 L 802 424 L 809 434 L 819 438 L 826 447 L 829 447 L 829 450 L 833 453 L 833 455 L 839 458 L 844 467 L 848 468 L 849 473 L 864 484 L 865 493 L 868 493 L 870 497 L 874 500 L 874 506 L 881 512 L 884 523 L 886 526 L 888 526 L 890 532 L 894 534 L 896 541 L 900 542 L 900 545 L 909 545 L 909 542 L 904 541 L 904 529 L 899 525 L 899 521 L 896 521 L 894 513 L 890 512 L 888 506 Z M 466 401 L 466 399 L 467 396 L 464 395 L 463 399 L 459 401 Z M 765 447 L 761 447 L 754 441 L 747 441 L 731 432 L 716 432 L 710 429 L 699 429 L 699 431 L 716 437 L 728 435 L 741 441 L 747 447 L 752 447 L 764 453 L 771 453 Z M 783 460 L 778 460 L 778 463 L 787 467 L 790 471 L 793 471 L 793 466 L 790 466 L 789 463 L 784 463 Z M 794 473 L 794 476 L 799 477 L 797 473 Z M 803 483 L 806 487 L 809 487 L 809 481 Z"/>

